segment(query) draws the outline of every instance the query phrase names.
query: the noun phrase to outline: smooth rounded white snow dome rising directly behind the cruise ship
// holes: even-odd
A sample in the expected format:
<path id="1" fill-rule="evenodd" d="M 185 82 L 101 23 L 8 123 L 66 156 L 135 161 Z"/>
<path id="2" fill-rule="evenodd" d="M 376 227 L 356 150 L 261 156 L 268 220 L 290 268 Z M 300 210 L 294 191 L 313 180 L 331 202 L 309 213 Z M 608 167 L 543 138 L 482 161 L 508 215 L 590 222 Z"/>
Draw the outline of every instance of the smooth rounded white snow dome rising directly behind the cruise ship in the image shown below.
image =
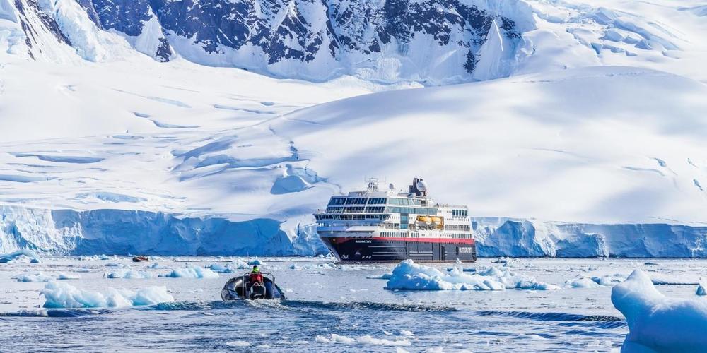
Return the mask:
<path id="1" fill-rule="evenodd" d="M 418 175 L 475 215 L 704 225 L 706 98 L 688 78 L 594 67 L 380 92 L 269 126 L 346 190 Z"/>

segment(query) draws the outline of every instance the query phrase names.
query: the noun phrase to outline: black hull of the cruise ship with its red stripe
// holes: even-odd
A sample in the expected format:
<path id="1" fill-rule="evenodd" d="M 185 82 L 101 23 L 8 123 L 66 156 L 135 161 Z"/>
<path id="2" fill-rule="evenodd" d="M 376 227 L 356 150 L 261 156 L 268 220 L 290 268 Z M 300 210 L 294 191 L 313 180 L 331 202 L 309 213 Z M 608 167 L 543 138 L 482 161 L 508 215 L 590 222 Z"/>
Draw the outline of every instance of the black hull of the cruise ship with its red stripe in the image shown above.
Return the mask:
<path id="1" fill-rule="evenodd" d="M 322 237 L 342 262 L 477 261 L 474 239 Z"/>

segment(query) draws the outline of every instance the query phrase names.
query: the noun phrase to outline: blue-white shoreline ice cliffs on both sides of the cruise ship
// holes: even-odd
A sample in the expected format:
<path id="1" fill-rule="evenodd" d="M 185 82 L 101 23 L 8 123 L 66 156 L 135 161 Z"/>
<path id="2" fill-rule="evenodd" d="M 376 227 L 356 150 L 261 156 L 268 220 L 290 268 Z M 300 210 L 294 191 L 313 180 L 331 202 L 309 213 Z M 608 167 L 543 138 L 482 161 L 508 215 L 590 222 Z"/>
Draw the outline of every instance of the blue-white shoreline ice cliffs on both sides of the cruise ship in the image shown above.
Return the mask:
<path id="1" fill-rule="evenodd" d="M 591 225 L 472 218 L 481 257 L 707 258 L 707 227 Z M 0 253 L 65 255 L 315 256 L 328 250 L 315 228 L 267 218 L 243 222 L 141 210 L 44 210 L 0 206 Z"/>

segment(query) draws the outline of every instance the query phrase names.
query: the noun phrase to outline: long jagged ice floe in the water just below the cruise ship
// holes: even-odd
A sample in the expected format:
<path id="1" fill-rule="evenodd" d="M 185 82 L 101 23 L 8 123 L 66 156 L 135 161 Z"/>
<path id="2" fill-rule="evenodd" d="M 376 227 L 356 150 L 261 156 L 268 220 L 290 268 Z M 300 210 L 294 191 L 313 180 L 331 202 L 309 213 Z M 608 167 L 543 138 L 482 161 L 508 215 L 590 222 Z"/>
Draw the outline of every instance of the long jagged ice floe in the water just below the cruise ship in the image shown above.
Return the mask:
<path id="1" fill-rule="evenodd" d="M 490 267 L 478 273 L 464 273 L 460 268 L 442 272 L 436 268 L 419 265 L 412 260 L 399 263 L 392 271 L 385 289 L 414 290 L 503 290 L 507 288 L 549 290 L 555 285 L 538 282 L 534 277 Z"/>

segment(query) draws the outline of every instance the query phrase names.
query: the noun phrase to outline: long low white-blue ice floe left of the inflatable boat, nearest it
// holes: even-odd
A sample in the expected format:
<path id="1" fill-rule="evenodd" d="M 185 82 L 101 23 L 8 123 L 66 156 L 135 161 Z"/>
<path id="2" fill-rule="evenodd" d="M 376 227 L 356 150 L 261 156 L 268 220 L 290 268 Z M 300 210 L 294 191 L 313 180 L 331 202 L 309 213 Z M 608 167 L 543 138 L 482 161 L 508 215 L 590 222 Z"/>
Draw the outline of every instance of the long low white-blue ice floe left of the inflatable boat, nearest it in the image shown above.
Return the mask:
<path id="1" fill-rule="evenodd" d="M 108 288 L 105 292 L 78 289 L 65 282 L 51 281 L 41 294 L 45 296 L 45 308 L 104 308 L 117 306 L 153 305 L 175 301 L 167 287 L 146 287 L 136 292 L 127 289 Z"/>

